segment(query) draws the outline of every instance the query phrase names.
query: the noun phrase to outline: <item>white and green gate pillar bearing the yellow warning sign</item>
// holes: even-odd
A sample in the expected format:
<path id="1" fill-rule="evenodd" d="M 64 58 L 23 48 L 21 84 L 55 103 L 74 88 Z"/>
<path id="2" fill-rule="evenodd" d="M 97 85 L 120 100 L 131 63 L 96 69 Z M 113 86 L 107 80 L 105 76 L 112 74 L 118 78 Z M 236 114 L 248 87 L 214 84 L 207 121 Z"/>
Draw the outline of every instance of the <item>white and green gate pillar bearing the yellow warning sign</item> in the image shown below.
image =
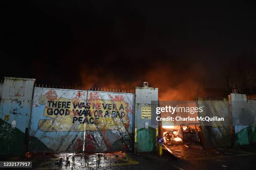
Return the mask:
<path id="1" fill-rule="evenodd" d="M 153 103 L 152 103 L 153 101 Z M 151 152 L 156 149 L 156 113 L 158 107 L 158 88 L 135 87 L 135 127 L 137 129 L 136 152 Z M 142 119 L 141 108 L 151 107 L 151 119 Z M 148 124 L 148 127 L 145 127 Z"/>

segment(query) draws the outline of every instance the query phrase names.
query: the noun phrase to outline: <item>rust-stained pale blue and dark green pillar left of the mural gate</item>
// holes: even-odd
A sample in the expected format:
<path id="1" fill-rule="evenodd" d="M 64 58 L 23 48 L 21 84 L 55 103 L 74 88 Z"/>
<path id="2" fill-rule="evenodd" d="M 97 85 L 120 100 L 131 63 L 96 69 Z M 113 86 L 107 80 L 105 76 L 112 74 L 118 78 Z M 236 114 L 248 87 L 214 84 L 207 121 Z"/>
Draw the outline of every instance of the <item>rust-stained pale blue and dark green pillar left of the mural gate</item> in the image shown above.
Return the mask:
<path id="1" fill-rule="evenodd" d="M 5 77 L 0 103 L 0 154 L 26 151 L 35 79 Z"/>

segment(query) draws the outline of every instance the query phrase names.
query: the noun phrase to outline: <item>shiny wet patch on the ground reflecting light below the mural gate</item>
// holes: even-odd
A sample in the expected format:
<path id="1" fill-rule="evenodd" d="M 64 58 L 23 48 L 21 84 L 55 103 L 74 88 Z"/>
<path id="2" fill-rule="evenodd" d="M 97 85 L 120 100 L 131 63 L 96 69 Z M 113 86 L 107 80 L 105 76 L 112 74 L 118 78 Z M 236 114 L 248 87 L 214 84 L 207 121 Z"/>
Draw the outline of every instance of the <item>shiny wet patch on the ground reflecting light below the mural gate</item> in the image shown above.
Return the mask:
<path id="1" fill-rule="evenodd" d="M 36 166 L 36 169 L 79 170 L 88 168 L 137 165 L 129 153 L 61 153 L 53 154 Z"/>

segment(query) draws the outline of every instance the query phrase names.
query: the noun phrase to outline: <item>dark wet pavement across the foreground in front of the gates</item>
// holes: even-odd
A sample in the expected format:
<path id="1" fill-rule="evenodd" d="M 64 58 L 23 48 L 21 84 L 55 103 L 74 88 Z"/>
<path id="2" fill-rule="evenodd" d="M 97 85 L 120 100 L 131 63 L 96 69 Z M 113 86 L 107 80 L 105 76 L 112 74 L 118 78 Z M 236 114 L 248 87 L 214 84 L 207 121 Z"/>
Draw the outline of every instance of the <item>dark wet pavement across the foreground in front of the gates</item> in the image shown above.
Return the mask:
<path id="1" fill-rule="evenodd" d="M 256 145 L 242 148 L 202 150 L 198 145 L 169 146 L 162 157 L 155 153 L 61 153 L 27 154 L 26 157 L 1 157 L 1 160 L 32 161 L 36 170 L 253 170 Z M 68 161 L 67 161 L 68 159 Z M 6 168 L 11 169 L 11 168 Z M 15 168 L 13 168 L 15 169 Z M 16 168 L 17 169 L 17 168 Z M 25 169 L 25 168 L 24 168 Z M 26 168 L 29 169 L 29 168 Z"/>

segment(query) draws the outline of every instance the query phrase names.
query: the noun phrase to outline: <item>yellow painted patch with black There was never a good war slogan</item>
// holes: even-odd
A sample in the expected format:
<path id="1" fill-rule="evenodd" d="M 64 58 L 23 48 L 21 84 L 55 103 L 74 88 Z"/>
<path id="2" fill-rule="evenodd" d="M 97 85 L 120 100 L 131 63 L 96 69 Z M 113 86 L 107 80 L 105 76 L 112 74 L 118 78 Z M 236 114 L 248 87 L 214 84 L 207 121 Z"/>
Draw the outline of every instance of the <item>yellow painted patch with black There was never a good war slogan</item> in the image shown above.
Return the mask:
<path id="1" fill-rule="evenodd" d="M 84 96 L 84 93 L 78 91 L 77 95 Z M 112 130 L 116 133 L 117 129 L 124 131 L 129 127 L 128 113 L 130 111 L 131 114 L 131 108 L 128 108 L 129 104 L 123 100 L 122 95 L 115 96 L 114 100 L 101 100 L 97 92 L 90 92 L 87 100 L 79 99 L 78 96 L 71 100 L 60 98 L 54 90 L 41 96 L 38 102 L 44 105 L 43 114 L 48 119 L 39 120 L 39 129 L 46 132 L 77 132 L 84 131 L 86 123 L 90 130 Z M 120 128 L 122 123 L 125 129 Z"/>

